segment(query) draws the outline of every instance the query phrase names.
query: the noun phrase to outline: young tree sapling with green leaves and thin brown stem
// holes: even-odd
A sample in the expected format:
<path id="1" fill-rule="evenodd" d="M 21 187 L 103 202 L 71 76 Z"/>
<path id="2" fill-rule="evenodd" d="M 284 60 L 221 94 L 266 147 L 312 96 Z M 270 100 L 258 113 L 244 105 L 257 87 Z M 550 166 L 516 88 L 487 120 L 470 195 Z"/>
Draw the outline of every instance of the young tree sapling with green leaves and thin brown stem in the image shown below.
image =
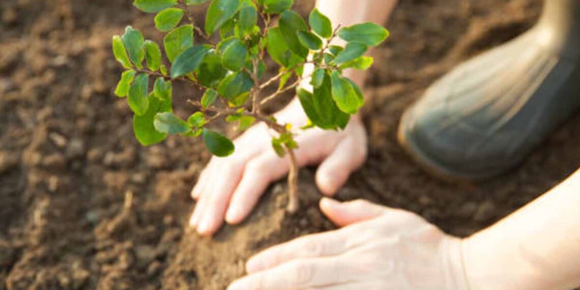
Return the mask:
<path id="1" fill-rule="evenodd" d="M 187 6 L 206 2 L 211 3 L 201 28 L 195 26 Z M 291 10 L 293 0 L 135 0 L 133 5 L 156 13 L 155 27 L 166 32 L 163 53 L 160 45 L 145 40 L 131 26 L 113 37 L 115 59 L 125 68 L 115 95 L 127 97 L 137 140 L 150 146 L 172 134 L 201 137 L 209 152 L 226 157 L 234 152 L 233 142 L 209 129 L 209 124 L 225 118 L 244 131 L 255 122 L 264 122 L 276 133 L 271 140 L 273 150 L 289 158 L 288 211 L 296 212 L 298 164 L 293 150 L 299 146 L 294 139 L 297 129 L 278 122 L 262 108 L 296 90 L 309 118 L 309 124 L 299 129 L 345 129 L 364 99 L 361 89 L 342 73 L 349 68 L 367 70 L 373 59 L 365 52 L 385 41 L 389 32 L 374 23 L 333 27 L 317 9 L 306 21 Z M 334 45 L 335 38 L 346 45 Z M 280 68 L 264 79 L 267 55 Z M 312 73 L 305 75 L 305 66 L 313 66 Z M 294 76 L 296 81 L 289 83 Z M 300 88 L 303 79 L 311 79 L 311 90 Z M 201 98 L 188 100 L 195 110 L 187 119 L 172 113 L 176 81 L 204 92 Z M 263 96 L 271 86 L 276 86 L 275 92 Z"/>

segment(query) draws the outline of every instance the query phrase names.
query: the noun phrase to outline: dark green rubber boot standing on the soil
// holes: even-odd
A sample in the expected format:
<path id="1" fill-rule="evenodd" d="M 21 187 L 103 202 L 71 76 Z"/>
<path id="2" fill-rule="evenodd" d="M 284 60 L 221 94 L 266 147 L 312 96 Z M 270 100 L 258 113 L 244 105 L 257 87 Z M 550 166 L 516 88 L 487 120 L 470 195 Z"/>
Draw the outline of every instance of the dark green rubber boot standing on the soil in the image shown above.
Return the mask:
<path id="1" fill-rule="evenodd" d="M 520 164 L 580 108 L 580 0 L 546 0 L 538 24 L 456 67 L 398 129 L 430 172 L 483 179 Z"/>

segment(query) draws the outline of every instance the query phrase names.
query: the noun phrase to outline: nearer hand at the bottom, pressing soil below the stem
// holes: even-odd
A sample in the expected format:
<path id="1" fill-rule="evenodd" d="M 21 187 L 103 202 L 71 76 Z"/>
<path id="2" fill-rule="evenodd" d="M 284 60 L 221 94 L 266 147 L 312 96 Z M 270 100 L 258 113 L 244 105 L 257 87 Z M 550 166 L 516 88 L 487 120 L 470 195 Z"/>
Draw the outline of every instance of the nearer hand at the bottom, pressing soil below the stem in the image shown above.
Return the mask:
<path id="1" fill-rule="evenodd" d="M 469 289 L 462 241 L 411 212 L 366 201 L 321 201 L 340 230 L 307 235 L 251 258 L 228 290 Z"/>

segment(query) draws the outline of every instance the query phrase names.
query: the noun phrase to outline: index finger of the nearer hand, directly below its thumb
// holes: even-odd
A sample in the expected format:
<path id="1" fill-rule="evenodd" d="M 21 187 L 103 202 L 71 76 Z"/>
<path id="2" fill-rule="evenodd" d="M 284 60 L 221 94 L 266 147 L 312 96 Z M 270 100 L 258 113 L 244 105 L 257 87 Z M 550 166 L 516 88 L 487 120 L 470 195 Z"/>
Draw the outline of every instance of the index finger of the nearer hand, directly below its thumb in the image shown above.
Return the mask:
<path id="1" fill-rule="evenodd" d="M 346 233 L 335 230 L 312 234 L 266 249 L 248 260 L 246 271 L 256 273 L 292 260 L 339 255 L 349 247 Z"/>

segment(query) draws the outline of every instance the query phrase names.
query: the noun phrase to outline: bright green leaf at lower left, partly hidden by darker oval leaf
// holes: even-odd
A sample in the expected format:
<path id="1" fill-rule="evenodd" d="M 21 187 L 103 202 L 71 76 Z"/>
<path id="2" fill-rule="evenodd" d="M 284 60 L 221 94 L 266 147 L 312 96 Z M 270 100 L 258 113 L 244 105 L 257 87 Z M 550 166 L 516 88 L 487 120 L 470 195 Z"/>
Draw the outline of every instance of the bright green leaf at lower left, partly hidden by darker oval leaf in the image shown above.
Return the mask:
<path id="1" fill-rule="evenodd" d="M 165 140 L 167 134 L 157 132 L 153 126 L 153 121 L 156 114 L 171 112 L 171 99 L 160 100 L 154 93 L 150 93 L 148 100 L 147 112 L 142 116 L 133 116 L 133 132 L 143 146 L 150 146 Z"/>

